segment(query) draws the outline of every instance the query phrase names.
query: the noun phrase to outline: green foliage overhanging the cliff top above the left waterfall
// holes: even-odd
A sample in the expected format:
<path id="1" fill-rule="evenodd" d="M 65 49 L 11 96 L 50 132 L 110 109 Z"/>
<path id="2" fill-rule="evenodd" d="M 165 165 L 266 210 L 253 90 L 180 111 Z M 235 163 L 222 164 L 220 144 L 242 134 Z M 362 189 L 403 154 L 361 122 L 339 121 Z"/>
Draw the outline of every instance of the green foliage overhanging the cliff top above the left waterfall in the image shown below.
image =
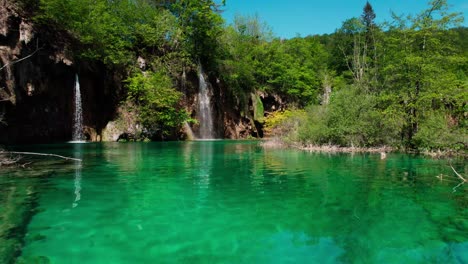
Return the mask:
<path id="1" fill-rule="evenodd" d="M 80 41 L 79 56 L 107 65 L 128 65 L 142 49 L 164 53 L 180 43 L 176 17 L 142 0 L 41 0 L 35 20 L 70 32 Z"/>

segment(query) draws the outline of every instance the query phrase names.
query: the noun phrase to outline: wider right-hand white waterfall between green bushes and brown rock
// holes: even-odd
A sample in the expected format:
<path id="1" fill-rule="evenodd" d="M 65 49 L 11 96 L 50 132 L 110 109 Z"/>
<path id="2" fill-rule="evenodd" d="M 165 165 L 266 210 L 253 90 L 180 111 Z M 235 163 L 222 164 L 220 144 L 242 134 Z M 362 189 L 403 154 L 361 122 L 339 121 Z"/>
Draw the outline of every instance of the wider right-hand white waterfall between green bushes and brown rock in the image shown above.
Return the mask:
<path id="1" fill-rule="evenodd" d="M 213 114 L 211 111 L 211 99 L 209 86 L 203 76 L 203 70 L 200 66 L 198 73 L 199 78 L 199 91 L 198 91 L 198 113 L 200 121 L 200 139 L 212 139 L 214 138 L 213 131 Z"/>

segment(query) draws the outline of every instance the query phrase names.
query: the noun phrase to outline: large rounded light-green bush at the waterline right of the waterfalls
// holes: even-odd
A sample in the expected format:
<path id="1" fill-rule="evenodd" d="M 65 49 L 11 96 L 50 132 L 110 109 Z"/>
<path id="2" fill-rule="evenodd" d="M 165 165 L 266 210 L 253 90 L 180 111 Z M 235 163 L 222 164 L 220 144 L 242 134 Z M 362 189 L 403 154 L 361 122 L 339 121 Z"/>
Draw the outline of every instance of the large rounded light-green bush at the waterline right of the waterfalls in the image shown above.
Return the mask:
<path id="1" fill-rule="evenodd" d="M 387 123 L 393 116 L 384 115 L 376 106 L 376 96 L 364 94 L 357 87 L 347 87 L 335 92 L 329 105 L 308 107 L 303 118 L 299 118 L 301 115 L 282 115 L 283 119 L 276 118 L 279 120 L 276 123 L 289 127 L 287 137 L 303 144 L 394 145 L 392 139 L 400 127 L 395 122 Z M 300 126 L 288 125 L 298 118 Z M 271 120 L 269 123 L 275 125 Z"/>

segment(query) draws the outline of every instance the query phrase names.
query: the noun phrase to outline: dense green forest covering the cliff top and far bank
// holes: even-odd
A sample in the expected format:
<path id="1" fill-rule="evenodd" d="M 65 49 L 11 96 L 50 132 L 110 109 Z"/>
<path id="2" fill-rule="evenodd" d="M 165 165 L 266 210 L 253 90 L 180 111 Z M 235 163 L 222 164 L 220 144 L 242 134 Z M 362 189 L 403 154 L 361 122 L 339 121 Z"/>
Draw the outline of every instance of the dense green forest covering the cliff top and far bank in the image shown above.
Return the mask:
<path id="1" fill-rule="evenodd" d="M 333 34 L 292 39 L 275 37 L 257 16 L 226 25 L 224 1 L 20 4 L 35 23 L 73 36 L 74 57 L 121 72 L 121 103 L 148 131 L 169 133 L 196 122 L 183 106 L 181 87 L 186 72 L 201 64 L 243 115 L 287 143 L 468 146 L 468 29 L 445 0 L 381 24 L 366 3 Z M 263 94 L 281 98 L 283 106 L 264 111 Z"/>

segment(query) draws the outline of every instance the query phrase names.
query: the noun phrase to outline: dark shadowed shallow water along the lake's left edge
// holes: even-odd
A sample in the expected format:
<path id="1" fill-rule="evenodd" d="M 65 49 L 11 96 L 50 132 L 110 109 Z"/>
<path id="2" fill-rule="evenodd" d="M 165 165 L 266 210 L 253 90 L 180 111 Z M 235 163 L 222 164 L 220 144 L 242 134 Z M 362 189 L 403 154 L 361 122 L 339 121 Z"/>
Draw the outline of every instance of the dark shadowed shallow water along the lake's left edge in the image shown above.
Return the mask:
<path id="1" fill-rule="evenodd" d="M 42 149 L 39 146 L 35 148 Z M 21 150 L 21 147 L 16 150 Z M 15 263 L 21 256 L 22 247 L 27 243 L 28 225 L 41 210 L 43 188 L 49 188 L 50 180 L 60 174 L 77 171 L 75 167 L 78 168 L 77 164 L 60 159 L 23 156 L 18 167 L 1 169 L 0 263 Z"/>

